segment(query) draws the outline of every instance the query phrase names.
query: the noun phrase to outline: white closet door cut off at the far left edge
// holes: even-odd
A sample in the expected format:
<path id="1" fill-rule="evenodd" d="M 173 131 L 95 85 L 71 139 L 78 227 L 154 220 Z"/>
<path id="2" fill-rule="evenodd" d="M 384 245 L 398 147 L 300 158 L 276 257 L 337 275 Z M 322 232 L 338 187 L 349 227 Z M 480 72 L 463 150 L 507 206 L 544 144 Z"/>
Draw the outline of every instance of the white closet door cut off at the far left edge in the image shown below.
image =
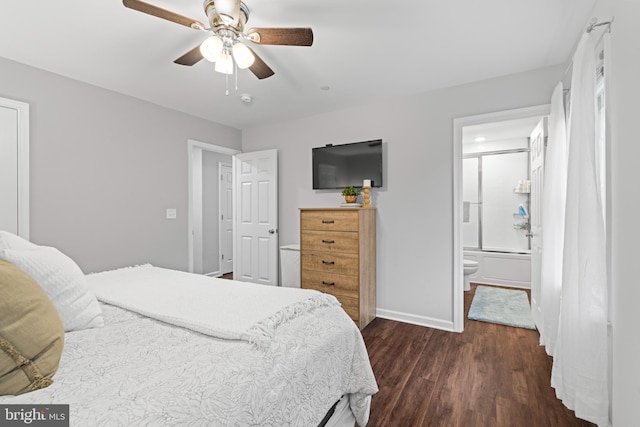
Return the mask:
<path id="1" fill-rule="evenodd" d="M 29 105 L 0 98 L 0 230 L 29 238 Z"/>

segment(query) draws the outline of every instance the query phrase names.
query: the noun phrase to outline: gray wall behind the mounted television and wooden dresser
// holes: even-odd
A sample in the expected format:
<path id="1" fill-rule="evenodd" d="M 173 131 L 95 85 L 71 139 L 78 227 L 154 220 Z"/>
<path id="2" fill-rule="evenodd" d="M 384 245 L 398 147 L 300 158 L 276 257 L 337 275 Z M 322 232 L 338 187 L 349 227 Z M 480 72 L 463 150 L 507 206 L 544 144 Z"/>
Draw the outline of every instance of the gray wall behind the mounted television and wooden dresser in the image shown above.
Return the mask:
<path id="1" fill-rule="evenodd" d="M 277 148 L 280 243 L 299 242 L 300 207 L 335 207 L 311 189 L 311 148 L 382 138 L 377 208 L 377 308 L 437 327 L 453 324 L 453 119 L 549 103 L 563 67 L 427 92 L 242 133 L 243 151 Z"/>

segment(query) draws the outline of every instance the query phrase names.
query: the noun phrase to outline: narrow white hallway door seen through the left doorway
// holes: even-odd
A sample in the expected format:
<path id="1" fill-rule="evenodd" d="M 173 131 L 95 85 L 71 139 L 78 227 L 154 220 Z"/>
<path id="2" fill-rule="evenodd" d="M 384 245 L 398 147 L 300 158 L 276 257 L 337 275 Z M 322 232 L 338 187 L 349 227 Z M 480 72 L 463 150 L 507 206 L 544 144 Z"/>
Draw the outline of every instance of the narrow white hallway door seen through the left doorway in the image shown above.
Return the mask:
<path id="1" fill-rule="evenodd" d="M 233 169 L 220 163 L 220 273 L 233 271 Z"/>

